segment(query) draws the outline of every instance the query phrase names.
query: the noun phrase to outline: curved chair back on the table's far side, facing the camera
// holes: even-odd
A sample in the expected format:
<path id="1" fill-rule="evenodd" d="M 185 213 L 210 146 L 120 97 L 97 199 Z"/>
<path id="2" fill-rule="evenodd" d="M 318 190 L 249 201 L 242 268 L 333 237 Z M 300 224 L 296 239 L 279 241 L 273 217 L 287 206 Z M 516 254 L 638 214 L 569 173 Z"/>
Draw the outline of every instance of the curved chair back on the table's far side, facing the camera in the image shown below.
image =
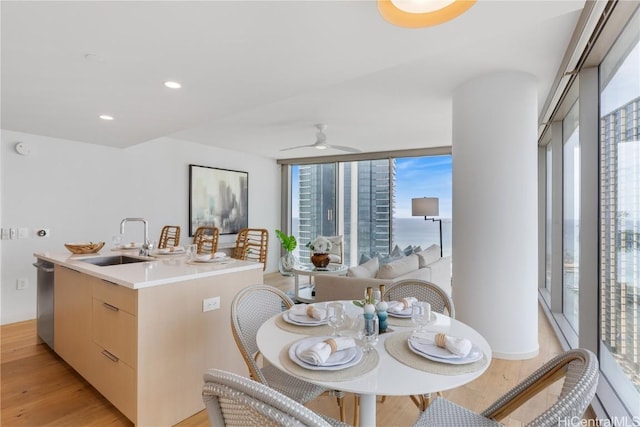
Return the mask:
<path id="1" fill-rule="evenodd" d="M 416 297 L 418 301 L 426 301 L 431 305 L 431 311 L 456 317 L 453 300 L 438 285 L 426 280 L 407 279 L 394 282 L 385 290 L 382 299 L 385 301 L 400 301 L 406 297 Z"/>

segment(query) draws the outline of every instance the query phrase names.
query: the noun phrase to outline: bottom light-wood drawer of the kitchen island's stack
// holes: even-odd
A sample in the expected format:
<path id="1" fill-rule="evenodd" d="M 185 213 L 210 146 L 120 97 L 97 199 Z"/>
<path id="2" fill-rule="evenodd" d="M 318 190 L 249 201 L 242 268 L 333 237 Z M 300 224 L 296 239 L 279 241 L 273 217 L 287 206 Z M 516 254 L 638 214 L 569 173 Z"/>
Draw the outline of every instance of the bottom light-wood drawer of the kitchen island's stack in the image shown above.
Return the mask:
<path id="1" fill-rule="evenodd" d="M 90 382 L 134 423 L 136 414 L 136 375 L 133 368 L 97 344 L 91 351 Z"/>

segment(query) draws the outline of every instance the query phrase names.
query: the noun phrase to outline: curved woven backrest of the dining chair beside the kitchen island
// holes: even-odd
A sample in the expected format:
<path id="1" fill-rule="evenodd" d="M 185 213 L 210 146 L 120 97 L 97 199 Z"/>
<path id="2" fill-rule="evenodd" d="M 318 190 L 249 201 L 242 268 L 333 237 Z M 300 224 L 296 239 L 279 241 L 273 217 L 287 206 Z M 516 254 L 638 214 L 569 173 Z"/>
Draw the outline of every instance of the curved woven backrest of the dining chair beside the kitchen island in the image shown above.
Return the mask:
<path id="1" fill-rule="evenodd" d="M 257 364 L 260 351 L 256 343 L 258 329 L 264 322 L 283 309 L 289 309 L 293 300 L 284 292 L 268 285 L 253 285 L 242 289 L 231 301 L 231 332 L 236 345 L 249 368 L 251 378 L 269 384 Z"/>

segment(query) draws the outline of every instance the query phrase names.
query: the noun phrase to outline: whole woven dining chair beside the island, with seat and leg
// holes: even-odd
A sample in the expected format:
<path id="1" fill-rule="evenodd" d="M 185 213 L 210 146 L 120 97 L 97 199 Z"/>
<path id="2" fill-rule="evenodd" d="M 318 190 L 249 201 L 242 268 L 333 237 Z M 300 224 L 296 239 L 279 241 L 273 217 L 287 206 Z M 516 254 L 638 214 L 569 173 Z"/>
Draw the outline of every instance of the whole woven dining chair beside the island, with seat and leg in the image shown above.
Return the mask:
<path id="1" fill-rule="evenodd" d="M 231 301 L 231 332 L 244 358 L 252 379 L 276 389 L 296 402 L 305 403 L 324 392 L 333 394 L 340 409 L 340 420 L 345 419 L 344 392 L 327 390 L 291 376 L 273 365 L 260 366 L 260 350 L 256 343 L 258 329 L 264 322 L 293 301 L 281 290 L 269 285 L 252 285 L 242 289 Z"/>

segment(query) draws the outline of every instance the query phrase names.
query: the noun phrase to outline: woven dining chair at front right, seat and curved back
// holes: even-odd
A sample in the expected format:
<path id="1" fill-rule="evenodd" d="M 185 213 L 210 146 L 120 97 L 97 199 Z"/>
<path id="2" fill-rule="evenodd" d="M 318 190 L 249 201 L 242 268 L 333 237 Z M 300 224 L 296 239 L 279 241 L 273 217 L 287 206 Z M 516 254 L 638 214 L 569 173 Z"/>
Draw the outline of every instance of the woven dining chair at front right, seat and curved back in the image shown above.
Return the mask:
<path id="1" fill-rule="evenodd" d="M 556 401 L 526 426 L 570 424 L 573 419 L 581 419 L 591 403 L 598 376 L 595 354 L 586 349 L 569 350 L 549 360 L 480 414 L 438 397 L 420 415 L 414 427 L 502 426 L 501 420 L 562 378 L 562 391 Z"/>

